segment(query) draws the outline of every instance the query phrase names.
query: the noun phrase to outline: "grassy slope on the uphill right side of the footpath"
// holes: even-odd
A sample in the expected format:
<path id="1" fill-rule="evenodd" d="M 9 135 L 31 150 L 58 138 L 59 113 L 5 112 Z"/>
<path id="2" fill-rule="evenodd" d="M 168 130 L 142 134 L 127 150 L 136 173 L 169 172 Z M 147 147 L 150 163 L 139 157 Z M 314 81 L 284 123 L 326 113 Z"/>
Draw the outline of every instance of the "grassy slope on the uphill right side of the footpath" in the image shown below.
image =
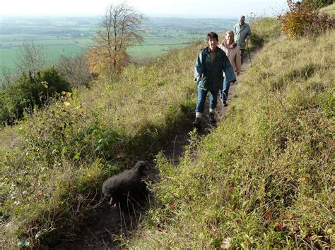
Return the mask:
<path id="1" fill-rule="evenodd" d="M 136 249 L 334 247 L 335 32 L 266 44 L 216 132 L 160 155 Z"/>

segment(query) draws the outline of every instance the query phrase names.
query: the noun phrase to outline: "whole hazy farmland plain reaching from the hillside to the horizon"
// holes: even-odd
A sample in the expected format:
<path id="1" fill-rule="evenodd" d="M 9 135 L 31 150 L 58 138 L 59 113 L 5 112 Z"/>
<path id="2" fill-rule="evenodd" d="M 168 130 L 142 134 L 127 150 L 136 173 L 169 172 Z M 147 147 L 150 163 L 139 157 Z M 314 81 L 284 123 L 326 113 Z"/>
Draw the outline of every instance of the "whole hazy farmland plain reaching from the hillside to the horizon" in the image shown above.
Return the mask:
<path id="1" fill-rule="evenodd" d="M 76 56 L 91 44 L 99 18 L 0 18 L 0 67 L 15 71 L 18 53 L 23 43 L 33 41 L 42 46 L 46 61 L 57 63 L 60 56 Z M 148 18 L 141 29 L 143 44 L 129 48 L 134 59 L 167 53 L 169 49 L 186 46 L 204 39 L 209 31 L 223 33 L 235 20 Z"/>

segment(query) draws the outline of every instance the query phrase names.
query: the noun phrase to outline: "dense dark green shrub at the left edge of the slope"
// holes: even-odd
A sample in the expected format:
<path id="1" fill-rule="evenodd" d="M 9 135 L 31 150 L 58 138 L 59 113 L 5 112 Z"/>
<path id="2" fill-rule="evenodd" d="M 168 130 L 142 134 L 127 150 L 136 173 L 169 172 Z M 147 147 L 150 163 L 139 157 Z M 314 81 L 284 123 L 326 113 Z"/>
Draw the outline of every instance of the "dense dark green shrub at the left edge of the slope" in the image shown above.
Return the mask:
<path id="1" fill-rule="evenodd" d="M 62 91 L 69 92 L 69 82 L 55 69 L 23 73 L 13 85 L 0 93 L 0 123 L 14 123 L 22 118 L 24 111 L 33 111 L 42 106 L 49 97 Z"/>

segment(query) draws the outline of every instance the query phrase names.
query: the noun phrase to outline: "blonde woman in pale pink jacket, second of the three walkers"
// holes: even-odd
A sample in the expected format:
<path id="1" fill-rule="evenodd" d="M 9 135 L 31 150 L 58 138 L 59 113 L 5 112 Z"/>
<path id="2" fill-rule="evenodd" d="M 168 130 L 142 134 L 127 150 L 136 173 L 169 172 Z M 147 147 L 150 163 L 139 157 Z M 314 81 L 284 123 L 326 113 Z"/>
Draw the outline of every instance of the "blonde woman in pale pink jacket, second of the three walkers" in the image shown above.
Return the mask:
<path id="1" fill-rule="evenodd" d="M 225 39 L 222 44 L 218 46 L 220 49 L 225 51 L 225 54 L 228 56 L 230 64 L 233 67 L 233 70 L 236 75 L 240 75 L 241 73 L 241 56 L 240 56 L 240 47 L 234 42 L 234 32 L 228 31 L 225 35 Z M 228 92 L 229 92 L 230 84 L 223 79 L 223 90 L 220 91 L 221 101 L 223 102 L 223 106 L 228 106 Z"/>

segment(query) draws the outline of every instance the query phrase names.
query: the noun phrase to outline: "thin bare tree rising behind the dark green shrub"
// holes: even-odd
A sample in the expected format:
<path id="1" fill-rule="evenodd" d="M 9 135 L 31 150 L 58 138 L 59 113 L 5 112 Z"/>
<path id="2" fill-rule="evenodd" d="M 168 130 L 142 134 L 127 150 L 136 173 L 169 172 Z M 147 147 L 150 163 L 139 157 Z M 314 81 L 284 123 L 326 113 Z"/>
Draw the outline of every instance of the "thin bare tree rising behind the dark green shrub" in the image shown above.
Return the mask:
<path id="1" fill-rule="evenodd" d="M 30 72 L 35 75 L 36 70 L 46 67 L 45 50 L 42 44 L 35 44 L 33 40 L 27 40 L 20 46 L 16 66 L 20 73 Z"/>

